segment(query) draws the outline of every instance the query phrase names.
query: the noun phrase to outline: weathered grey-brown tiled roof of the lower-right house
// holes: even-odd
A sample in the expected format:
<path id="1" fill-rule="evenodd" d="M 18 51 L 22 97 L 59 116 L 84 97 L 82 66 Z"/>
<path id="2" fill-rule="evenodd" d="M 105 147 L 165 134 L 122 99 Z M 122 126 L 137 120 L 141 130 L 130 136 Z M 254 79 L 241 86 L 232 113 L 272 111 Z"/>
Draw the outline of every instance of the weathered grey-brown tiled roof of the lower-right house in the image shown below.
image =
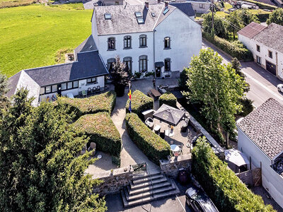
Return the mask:
<path id="1" fill-rule="evenodd" d="M 256 110 L 248 114 L 237 126 L 270 159 L 283 151 L 283 106 L 268 99 Z"/>

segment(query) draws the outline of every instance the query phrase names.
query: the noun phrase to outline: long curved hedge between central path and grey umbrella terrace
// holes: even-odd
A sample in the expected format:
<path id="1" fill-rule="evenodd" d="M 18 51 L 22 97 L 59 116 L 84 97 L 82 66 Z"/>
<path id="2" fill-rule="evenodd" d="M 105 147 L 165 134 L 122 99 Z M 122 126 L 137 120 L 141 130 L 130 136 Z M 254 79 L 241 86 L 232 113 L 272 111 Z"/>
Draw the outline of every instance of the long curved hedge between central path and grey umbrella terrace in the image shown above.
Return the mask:
<path id="1" fill-rule="evenodd" d="M 151 131 L 137 114 L 128 113 L 125 119 L 129 137 L 149 159 L 159 164 L 159 160 L 170 155 L 169 144 Z"/>

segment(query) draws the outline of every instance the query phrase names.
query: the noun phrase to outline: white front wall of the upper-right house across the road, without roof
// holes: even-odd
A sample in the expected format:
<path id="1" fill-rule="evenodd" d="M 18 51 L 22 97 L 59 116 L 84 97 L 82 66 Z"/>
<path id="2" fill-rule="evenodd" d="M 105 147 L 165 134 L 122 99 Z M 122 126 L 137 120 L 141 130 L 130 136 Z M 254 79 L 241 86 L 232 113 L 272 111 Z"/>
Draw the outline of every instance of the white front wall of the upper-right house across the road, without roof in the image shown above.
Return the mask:
<path id="1" fill-rule="evenodd" d="M 262 45 L 262 43 L 241 34 L 238 34 L 238 40 L 243 42 L 243 45 L 253 53 L 254 61 L 262 66 L 263 69 L 267 69 L 266 64 L 268 62 L 274 64 L 276 66 L 275 75 L 277 78 L 283 80 L 283 52 L 278 52 L 275 49 Z M 260 52 L 258 52 L 257 45 L 260 47 Z M 270 57 L 270 52 L 272 52 L 272 58 Z M 260 60 L 260 63 L 258 60 Z"/>

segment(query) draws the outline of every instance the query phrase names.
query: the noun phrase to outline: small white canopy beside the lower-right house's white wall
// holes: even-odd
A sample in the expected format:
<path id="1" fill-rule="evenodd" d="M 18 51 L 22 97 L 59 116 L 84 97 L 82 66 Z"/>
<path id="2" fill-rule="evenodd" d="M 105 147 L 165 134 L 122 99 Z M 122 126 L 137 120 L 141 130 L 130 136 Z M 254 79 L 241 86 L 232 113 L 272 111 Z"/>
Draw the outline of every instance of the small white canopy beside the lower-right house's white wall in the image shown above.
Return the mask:
<path id="1" fill-rule="evenodd" d="M 248 160 L 247 156 L 234 148 L 228 149 L 224 151 L 224 153 L 225 160 L 230 161 L 238 167 L 250 164 L 250 161 Z"/>

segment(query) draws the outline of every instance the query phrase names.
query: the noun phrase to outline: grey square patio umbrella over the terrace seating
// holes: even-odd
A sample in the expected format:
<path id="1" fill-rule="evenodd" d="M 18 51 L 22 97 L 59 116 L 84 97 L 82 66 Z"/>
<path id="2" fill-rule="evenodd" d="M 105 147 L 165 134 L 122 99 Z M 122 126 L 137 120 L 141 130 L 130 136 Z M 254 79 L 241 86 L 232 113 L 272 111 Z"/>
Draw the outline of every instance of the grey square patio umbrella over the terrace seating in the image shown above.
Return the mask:
<path id="1" fill-rule="evenodd" d="M 178 110 L 165 104 L 163 104 L 156 112 L 154 112 L 154 118 L 173 126 L 176 126 L 184 115 L 185 112 L 182 110 Z"/>

